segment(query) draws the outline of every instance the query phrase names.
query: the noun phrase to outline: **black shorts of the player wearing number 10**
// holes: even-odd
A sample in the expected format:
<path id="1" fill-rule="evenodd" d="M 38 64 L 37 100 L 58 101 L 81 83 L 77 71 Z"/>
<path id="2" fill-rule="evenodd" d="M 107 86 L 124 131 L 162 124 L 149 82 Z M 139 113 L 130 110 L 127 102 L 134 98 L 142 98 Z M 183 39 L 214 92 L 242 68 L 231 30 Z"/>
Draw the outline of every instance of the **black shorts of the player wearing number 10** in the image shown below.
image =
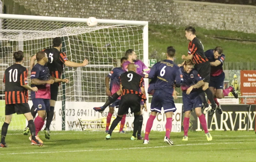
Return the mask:
<path id="1" fill-rule="evenodd" d="M 5 115 L 25 114 L 31 112 L 28 103 L 5 105 Z"/>

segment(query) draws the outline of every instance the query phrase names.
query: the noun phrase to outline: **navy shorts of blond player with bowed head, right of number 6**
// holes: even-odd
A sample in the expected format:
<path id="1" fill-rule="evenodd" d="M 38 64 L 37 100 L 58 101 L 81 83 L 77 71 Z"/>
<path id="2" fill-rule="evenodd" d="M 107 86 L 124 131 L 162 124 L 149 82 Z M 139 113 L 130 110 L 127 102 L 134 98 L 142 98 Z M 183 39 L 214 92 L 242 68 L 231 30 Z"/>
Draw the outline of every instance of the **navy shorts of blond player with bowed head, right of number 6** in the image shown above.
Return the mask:
<path id="1" fill-rule="evenodd" d="M 202 107 L 202 101 L 199 97 L 199 91 L 191 91 L 189 95 L 186 94 L 186 91 L 182 92 L 182 101 L 183 101 L 183 112 L 192 111 L 197 107 Z"/>

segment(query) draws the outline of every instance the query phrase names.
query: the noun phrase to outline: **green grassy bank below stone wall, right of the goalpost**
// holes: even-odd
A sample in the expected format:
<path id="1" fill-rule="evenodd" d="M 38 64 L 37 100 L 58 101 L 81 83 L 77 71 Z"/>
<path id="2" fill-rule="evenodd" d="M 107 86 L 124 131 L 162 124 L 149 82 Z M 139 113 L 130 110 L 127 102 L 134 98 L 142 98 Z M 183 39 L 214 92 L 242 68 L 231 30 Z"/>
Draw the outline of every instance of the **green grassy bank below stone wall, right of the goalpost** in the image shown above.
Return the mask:
<path id="1" fill-rule="evenodd" d="M 204 45 L 204 50 L 221 46 L 228 62 L 250 62 L 255 59 L 256 34 L 229 30 L 206 30 L 196 28 L 197 37 Z M 236 41 L 223 40 L 214 37 L 226 37 L 232 39 L 250 40 Z M 176 58 L 179 60 L 183 54 L 187 55 L 189 41 L 185 37 L 185 27 L 175 27 L 172 25 L 149 25 L 149 58 L 164 59 L 161 55 L 166 52 L 167 46 L 174 46 Z"/>

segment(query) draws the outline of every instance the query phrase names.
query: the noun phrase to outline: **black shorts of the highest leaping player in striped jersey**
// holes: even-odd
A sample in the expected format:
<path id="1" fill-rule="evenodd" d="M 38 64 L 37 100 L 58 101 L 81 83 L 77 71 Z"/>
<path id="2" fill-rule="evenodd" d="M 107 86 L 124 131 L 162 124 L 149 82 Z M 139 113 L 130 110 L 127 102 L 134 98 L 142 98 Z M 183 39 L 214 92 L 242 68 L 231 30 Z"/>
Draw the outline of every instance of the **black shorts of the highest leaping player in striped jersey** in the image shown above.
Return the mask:
<path id="1" fill-rule="evenodd" d="M 204 82 L 210 82 L 211 64 L 209 61 L 201 64 L 196 64 L 195 70 L 198 71 L 198 74 L 203 78 Z"/>

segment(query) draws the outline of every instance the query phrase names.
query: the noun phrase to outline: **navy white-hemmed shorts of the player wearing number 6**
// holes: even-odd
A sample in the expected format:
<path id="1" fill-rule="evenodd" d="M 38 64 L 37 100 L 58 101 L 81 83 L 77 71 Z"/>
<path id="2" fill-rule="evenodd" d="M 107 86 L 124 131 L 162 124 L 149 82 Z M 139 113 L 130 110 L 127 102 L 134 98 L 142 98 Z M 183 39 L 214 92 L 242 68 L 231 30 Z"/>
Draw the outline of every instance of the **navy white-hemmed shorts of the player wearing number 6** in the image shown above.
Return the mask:
<path id="1" fill-rule="evenodd" d="M 161 112 L 162 107 L 164 112 L 176 111 L 173 96 L 170 93 L 161 90 L 155 90 L 151 101 L 151 111 Z"/>

